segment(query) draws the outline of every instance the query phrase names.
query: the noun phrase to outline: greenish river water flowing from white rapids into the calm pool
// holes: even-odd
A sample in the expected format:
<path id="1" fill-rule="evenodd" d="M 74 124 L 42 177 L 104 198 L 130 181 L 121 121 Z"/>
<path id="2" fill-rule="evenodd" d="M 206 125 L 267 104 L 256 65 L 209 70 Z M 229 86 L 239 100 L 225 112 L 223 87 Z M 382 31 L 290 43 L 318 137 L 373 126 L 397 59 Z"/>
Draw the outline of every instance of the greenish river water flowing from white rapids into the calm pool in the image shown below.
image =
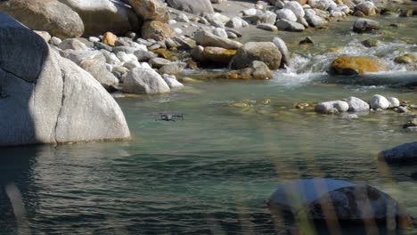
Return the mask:
<path id="1" fill-rule="evenodd" d="M 412 19 L 396 18 L 405 28 L 389 30 L 413 35 Z M 396 54 L 416 53 L 415 42 L 391 38 L 365 49 L 358 46 L 362 37 L 383 33 L 332 30 L 340 29 L 320 30 L 310 49 L 289 43 L 298 55 L 270 81 L 211 80 L 171 94 L 119 99 L 131 142 L 0 150 L 0 233 L 286 234 L 298 224 L 276 220 L 264 200 L 282 182 L 313 177 L 368 183 L 417 216 L 417 183 L 410 177 L 415 166 L 377 159 L 380 150 L 417 140 L 401 128 L 410 115 L 382 111 L 351 119 L 294 108 L 352 95 L 368 101 L 375 93 L 417 103 L 415 90 L 398 87 L 404 79 L 415 82 L 417 73 L 389 62 Z M 327 38 L 331 33 L 337 38 Z M 350 77 L 355 82 L 329 77 L 326 67 L 337 54 L 320 53 L 327 50 L 323 44 L 379 56 L 392 71 Z M 184 120 L 155 121 L 159 112 L 184 114 Z M 12 198 L 20 194 L 17 204 L 25 209 L 19 220 L 11 185 L 17 189 Z"/>

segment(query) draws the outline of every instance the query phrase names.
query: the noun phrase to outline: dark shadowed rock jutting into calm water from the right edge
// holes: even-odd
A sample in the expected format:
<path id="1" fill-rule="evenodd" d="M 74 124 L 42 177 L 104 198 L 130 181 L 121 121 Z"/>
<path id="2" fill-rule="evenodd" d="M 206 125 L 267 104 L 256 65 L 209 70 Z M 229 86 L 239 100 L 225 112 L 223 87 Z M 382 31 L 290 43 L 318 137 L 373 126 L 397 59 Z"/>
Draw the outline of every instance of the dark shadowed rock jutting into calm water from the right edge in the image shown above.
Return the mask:
<path id="1" fill-rule="evenodd" d="M 409 142 L 381 151 L 379 157 L 389 163 L 414 161 L 417 159 L 417 142 Z"/>

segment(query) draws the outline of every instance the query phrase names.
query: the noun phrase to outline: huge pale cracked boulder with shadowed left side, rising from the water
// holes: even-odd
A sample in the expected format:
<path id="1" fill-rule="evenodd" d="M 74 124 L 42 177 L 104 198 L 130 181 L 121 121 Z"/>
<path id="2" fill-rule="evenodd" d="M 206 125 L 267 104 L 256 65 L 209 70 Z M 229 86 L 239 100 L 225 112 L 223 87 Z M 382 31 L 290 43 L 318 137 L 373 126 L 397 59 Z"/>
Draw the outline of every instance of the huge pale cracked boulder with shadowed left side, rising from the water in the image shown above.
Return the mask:
<path id="1" fill-rule="evenodd" d="M 130 137 L 94 77 L 0 12 L 0 146 Z"/>

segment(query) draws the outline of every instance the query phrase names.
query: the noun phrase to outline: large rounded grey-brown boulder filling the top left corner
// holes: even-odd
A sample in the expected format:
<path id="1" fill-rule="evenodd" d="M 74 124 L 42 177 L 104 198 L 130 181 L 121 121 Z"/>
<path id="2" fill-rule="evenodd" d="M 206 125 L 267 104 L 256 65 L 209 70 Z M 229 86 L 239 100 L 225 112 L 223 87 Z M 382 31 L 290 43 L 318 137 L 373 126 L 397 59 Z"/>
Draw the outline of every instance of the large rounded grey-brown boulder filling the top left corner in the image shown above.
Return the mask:
<path id="1" fill-rule="evenodd" d="M 56 0 L 3 1 L 0 11 L 32 30 L 47 31 L 61 39 L 78 37 L 84 33 L 84 24 L 78 13 Z"/>

